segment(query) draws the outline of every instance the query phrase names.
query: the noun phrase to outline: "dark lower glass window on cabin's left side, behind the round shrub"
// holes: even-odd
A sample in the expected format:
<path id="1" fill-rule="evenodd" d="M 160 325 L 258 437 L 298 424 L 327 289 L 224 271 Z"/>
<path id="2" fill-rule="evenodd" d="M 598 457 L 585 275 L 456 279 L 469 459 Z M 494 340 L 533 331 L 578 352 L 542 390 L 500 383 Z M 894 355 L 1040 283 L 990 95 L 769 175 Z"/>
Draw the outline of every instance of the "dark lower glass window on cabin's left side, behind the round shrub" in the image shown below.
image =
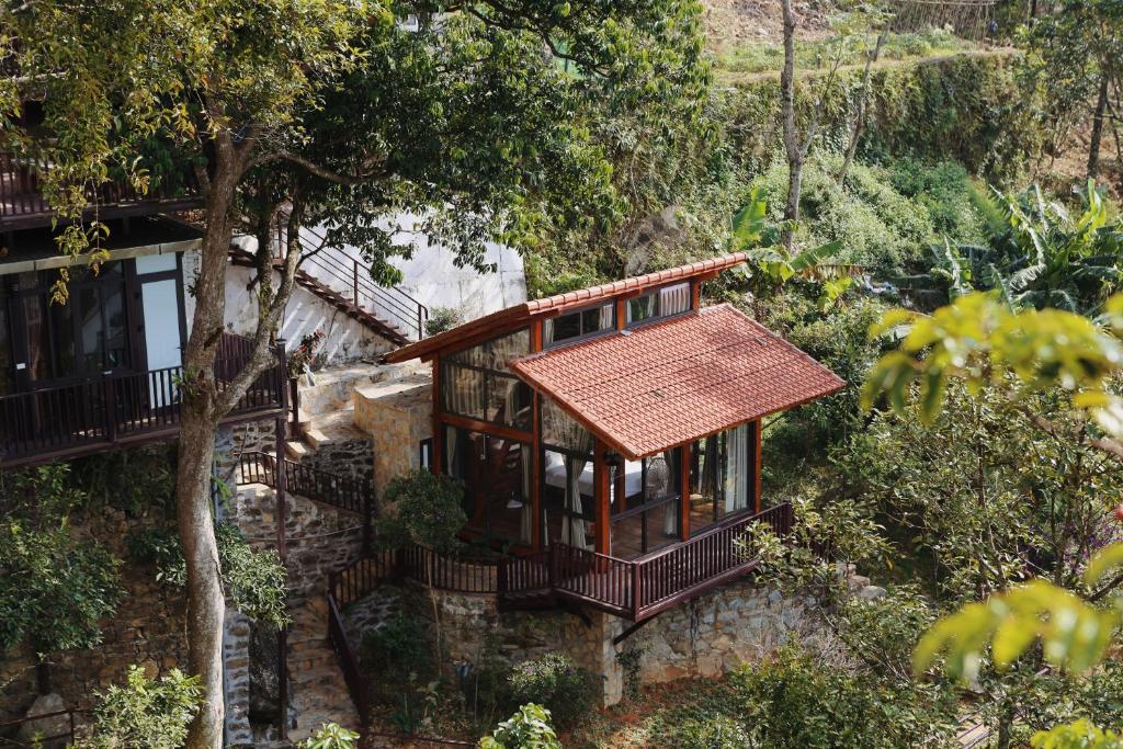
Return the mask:
<path id="1" fill-rule="evenodd" d="M 510 544 L 531 544 L 530 445 L 446 427 L 445 467 L 464 485 L 468 529 Z"/>

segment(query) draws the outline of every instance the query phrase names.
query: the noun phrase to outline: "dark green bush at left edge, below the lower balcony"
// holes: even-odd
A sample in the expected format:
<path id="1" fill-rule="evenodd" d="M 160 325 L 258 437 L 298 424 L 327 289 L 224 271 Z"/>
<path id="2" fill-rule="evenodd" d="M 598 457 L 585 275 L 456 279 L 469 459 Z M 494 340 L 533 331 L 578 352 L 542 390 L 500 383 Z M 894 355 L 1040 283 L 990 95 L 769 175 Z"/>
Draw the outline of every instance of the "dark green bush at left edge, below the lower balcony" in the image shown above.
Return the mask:
<path id="1" fill-rule="evenodd" d="M 71 512 L 85 500 L 69 466 L 2 476 L 0 486 L 0 647 L 30 643 L 37 652 L 90 648 L 99 621 L 121 597 L 120 561 L 71 532 Z"/>

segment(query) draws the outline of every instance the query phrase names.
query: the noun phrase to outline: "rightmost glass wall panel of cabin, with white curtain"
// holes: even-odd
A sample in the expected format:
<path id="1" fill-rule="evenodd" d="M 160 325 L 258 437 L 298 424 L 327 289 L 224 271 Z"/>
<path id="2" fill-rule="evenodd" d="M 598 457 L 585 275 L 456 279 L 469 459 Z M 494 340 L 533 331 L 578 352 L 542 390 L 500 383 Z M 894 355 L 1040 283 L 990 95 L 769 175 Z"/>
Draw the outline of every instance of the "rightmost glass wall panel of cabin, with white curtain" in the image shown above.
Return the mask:
<path id="1" fill-rule="evenodd" d="M 756 508 L 756 423 L 694 442 L 691 450 L 691 535 Z"/>

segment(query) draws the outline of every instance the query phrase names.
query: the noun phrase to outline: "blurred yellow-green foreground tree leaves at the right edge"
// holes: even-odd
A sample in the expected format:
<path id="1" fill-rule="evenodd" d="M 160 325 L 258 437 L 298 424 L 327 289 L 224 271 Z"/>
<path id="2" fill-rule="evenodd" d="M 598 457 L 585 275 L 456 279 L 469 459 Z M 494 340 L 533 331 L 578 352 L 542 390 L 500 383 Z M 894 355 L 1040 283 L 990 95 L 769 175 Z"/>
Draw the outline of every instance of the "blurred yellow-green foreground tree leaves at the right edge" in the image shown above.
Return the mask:
<path id="1" fill-rule="evenodd" d="M 931 421 L 944 405 L 949 382 L 959 381 L 976 396 L 989 391 L 1005 398 L 1035 429 L 1123 459 L 1123 408 L 1111 382 L 1123 368 L 1123 296 L 1113 296 L 1105 307 L 1101 327 L 1071 312 L 1012 311 L 993 296 L 962 296 L 915 321 L 902 350 L 883 357 L 867 381 L 866 402 L 884 394 L 900 412 L 919 383 L 920 415 Z M 901 313 L 887 316 L 882 327 L 902 319 Z M 1011 387 L 1011 381 L 1017 386 Z M 1075 428 L 1063 428 L 1026 403 L 1028 396 L 1056 386 L 1071 393 Z M 1123 508 L 1114 512 L 1123 518 Z M 970 679 L 988 661 L 1005 672 L 1030 654 L 1056 668 L 1086 672 L 1105 657 L 1123 624 L 1121 585 L 1123 544 L 1105 546 L 1088 559 L 1076 590 L 1032 579 L 940 620 L 917 645 L 914 668 L 923 672 L 944 654 L 944 669 Z M 1031 650 L 1039 642 L 1040 650 Z M 1116 743 L 1086 724 L 1034 739 L 1038 747 L 1093 742 Z M 1010 732 L 999 732 L 999 745 L 1008 743 Z"/>

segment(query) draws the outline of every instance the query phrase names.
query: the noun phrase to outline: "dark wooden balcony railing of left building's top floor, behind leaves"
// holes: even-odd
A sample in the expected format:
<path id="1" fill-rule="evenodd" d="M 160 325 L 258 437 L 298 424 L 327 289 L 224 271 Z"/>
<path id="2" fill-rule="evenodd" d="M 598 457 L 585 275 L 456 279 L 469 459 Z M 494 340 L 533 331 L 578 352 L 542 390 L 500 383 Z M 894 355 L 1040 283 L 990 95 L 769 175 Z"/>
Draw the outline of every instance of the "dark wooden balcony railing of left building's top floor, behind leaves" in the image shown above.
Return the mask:
<path id="1" fill-rule="evenodd" d="M 40 175 L 51 165 L 33 158 L 0 153 L 0 231 L 49 226 L 55 211 L 40 191 Z M 184 189 L 172 191 L 157 183 L 139 194 L 126 183 L 107 182 L 86 189 L 88 212 L 97 208 L 99 219 L 146 216 L 198 208 L 202 199 L 194 182 L 186 180 Z"/>

